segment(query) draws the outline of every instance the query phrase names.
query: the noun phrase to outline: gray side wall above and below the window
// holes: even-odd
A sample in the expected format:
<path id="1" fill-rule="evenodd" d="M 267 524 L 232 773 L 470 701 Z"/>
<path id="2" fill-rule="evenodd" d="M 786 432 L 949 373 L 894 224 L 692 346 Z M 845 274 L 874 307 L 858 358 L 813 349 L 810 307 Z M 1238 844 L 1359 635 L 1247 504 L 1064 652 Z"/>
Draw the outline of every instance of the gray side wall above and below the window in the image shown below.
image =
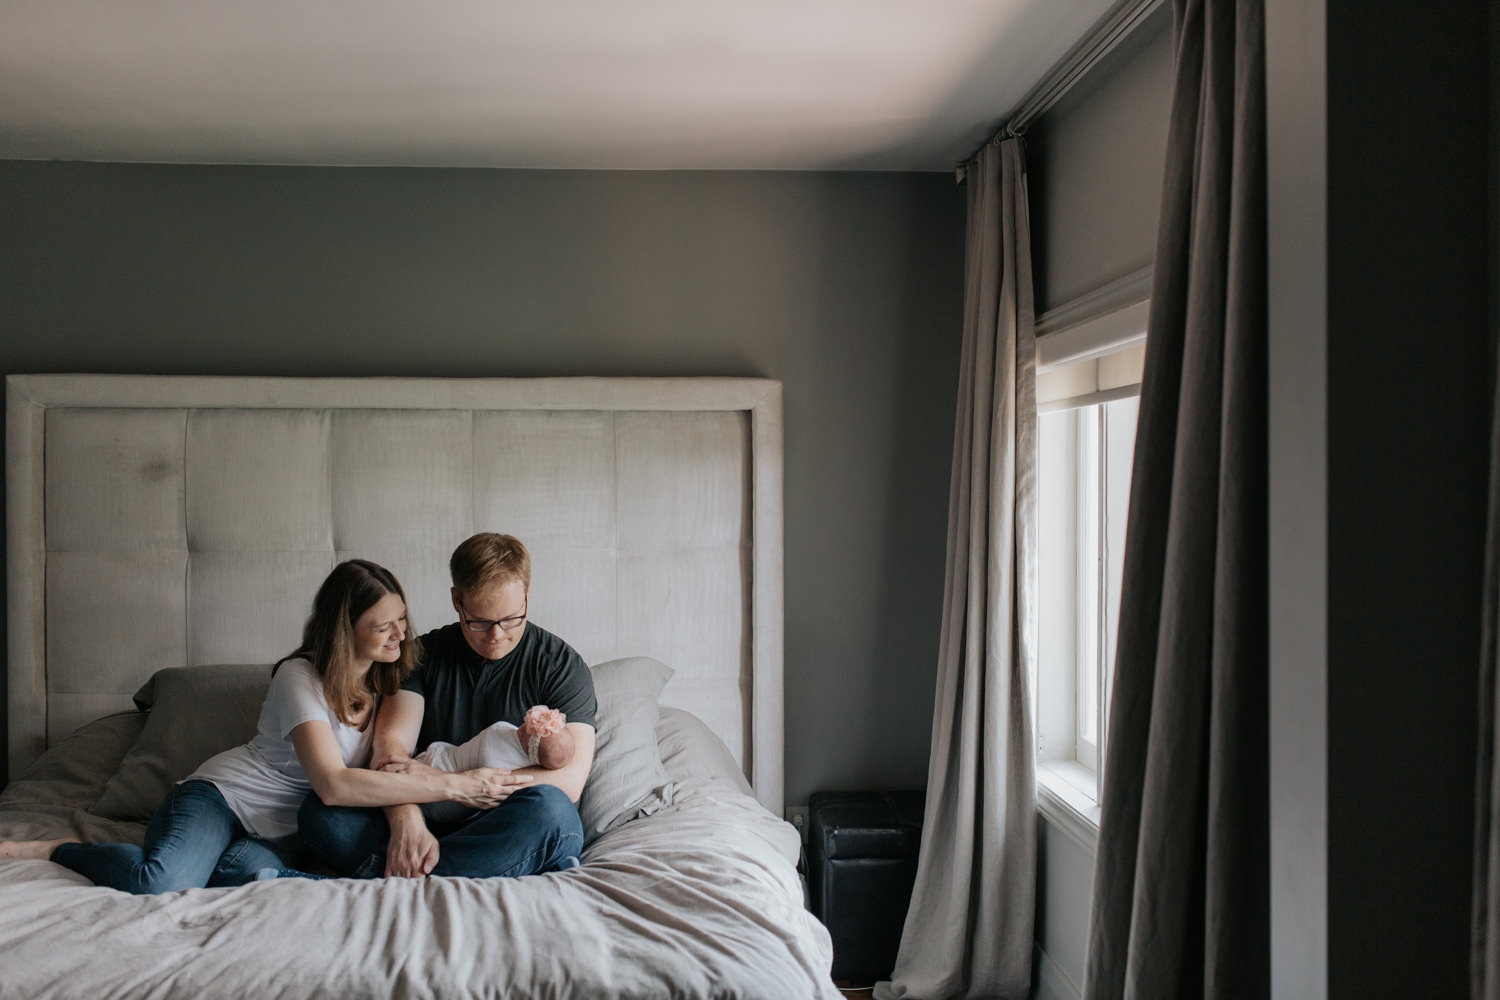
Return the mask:
<path id="1" fill-rule="evenodd" d="M 1170 105 L 1172 13 L 1164 6 L 1029 129 L 1038 313 L 1150 264 Z M 1036 991 L 1070 997 L 1083 984 L 1094 855 L 1040 825 Z"/>

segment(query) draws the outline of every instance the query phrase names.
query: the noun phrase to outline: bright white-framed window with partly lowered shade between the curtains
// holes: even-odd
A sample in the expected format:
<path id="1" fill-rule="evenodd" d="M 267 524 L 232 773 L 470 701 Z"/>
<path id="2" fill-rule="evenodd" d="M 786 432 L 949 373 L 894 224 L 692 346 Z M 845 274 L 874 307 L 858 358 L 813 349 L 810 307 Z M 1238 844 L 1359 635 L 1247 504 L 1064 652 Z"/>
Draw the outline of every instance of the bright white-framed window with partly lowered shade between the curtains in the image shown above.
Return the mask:
<path id="1" fill-rule="evenodd" d="M 1080 333 L 1086 331 L 1071 327 L 1052 343 L 1038 339 L 1034 690 L 1038 807 L 1050 822 L 1092 846 L 1146 349 L 1140 336 L 1120 337 L 1118 325 L 1108 343 L 1088 343 Z M 1066 348 L 1059 349 L 1059 343 Z"/>

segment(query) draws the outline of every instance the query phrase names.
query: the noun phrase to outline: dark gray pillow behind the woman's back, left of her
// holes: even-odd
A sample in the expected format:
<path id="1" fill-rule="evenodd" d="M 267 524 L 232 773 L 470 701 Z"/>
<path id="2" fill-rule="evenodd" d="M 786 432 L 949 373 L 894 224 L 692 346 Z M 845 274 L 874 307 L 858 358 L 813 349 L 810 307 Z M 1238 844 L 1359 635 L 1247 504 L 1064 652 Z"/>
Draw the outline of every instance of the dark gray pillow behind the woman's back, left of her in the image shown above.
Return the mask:
<path id="1" fill-rule="evenodd" d="M 146 726 L 93 813 L 146 820 L 172 786 L 220 750 L 255 738 L 261 702 L 272 685 L 270 664 L 166 667 L 135 693 Z"/>

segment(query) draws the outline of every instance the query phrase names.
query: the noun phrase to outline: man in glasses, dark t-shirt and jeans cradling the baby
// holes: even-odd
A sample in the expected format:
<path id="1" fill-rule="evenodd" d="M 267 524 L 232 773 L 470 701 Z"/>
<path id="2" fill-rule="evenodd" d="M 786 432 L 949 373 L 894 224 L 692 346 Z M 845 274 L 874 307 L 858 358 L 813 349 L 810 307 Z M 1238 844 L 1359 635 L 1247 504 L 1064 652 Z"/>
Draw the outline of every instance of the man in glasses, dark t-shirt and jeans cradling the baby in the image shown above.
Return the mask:
<path id="1" fill-rule="evenodd" d="M 480 532 L 448 561 L 459 621 L 422 637 L 422 663 L 386 699 L 372 768 L 418 771 L 414 751 L 468 742 L 496 721 L 519 726 L 528 708 L 567 715 L 573 759 L 504 778 L 495 808 L 428 828 L 417 805 L 384 810 L 303 804 L 298 829 L 344 876 L 528 876 L 570 868 L 584 850 L 578 798 L 594 763 L 594 682 L 584 660 L 531 624 L 531 556 L 512 535 Z"/>

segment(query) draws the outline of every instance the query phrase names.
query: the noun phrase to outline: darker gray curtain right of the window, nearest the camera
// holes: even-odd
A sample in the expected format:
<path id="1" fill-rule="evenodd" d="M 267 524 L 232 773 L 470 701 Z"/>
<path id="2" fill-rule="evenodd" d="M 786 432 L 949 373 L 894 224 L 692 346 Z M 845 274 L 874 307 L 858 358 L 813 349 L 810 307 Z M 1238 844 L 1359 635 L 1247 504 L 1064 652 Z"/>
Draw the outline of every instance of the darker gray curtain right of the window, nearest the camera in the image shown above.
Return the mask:
<path id="1" fill-rule="evenodd" d="M 1084 996 L 1268 997 L 1260 0 L 1176 0 Z"/>

